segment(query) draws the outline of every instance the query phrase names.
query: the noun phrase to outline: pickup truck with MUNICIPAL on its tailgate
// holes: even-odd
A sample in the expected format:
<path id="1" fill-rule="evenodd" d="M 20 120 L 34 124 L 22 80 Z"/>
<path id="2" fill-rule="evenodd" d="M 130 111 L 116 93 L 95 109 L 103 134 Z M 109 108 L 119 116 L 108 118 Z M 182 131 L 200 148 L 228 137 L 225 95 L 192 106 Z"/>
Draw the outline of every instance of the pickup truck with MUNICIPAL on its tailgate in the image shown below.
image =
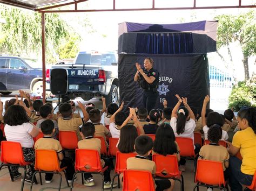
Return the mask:
<path id="1" fill-rule="evenodd" d="M 116 52 L 79 52 L 74 63 L 53 65 L 68 71 L 68 93 L 71 100 L 106 97 L 106 104 L 118 103 L 118 73 Z M 50 69 L 46 70 L 46 82 L 50 82 Z"/>

